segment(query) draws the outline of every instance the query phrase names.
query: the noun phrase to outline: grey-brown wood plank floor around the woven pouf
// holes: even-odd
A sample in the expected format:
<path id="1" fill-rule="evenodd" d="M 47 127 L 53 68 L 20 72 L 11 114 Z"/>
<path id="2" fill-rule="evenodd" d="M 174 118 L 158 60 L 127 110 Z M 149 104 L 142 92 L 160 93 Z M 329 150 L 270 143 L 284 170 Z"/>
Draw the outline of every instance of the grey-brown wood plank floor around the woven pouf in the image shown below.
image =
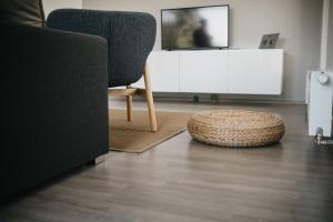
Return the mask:
<path id="1" fill-rule="evenodd" d="M 333 221 L 333 148 L 313 145 L 305 107 L 158 104 L 193 112 L 229 108 L 281 114 L 284 139 L 269 148 L 222 149 L 184 132 L 143 154 L 111 152 L 3 205 L 0 221 Z"/>

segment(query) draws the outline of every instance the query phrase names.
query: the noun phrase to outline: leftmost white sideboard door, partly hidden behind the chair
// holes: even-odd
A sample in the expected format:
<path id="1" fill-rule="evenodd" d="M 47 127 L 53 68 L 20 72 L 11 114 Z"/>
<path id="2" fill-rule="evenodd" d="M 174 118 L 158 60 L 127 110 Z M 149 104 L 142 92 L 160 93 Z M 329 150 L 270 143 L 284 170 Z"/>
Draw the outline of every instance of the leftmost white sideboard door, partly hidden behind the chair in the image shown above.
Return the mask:
<path id="1" fill-rule="evenodd" d="M 179 92 L 179 52 L 152 52 L 148 67 L 152 91 Z M 144 88 L 143 77 L 133 85 Z"/>

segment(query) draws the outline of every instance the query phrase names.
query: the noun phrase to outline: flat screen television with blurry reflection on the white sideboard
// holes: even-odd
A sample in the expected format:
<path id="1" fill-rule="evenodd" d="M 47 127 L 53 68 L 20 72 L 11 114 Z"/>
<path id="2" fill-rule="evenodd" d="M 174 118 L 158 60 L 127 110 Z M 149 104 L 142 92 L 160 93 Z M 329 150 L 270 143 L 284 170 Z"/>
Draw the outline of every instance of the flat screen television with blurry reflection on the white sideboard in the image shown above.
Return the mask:
<path id="1" fill-rule="evenodd" d="M 162 9 L 162 49 L 229 47 L 229 6 Z"/>

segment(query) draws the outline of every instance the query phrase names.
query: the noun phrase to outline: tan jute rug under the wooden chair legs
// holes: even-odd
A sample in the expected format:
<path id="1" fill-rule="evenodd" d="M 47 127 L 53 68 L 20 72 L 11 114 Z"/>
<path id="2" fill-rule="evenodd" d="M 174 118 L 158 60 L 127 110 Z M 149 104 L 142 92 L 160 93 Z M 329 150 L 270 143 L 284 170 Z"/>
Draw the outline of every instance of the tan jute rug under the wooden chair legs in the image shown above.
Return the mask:
<path id="1" fill-rule="evenodd" d="M 148 111 L 133 111 L 133 120 L 128 122 L 125 110 L 110 110 L 110 150 L 141 153 L 185 131 L 190 117 L 190 113 L 157 112 L 159 131 L 153 133 Z"/>

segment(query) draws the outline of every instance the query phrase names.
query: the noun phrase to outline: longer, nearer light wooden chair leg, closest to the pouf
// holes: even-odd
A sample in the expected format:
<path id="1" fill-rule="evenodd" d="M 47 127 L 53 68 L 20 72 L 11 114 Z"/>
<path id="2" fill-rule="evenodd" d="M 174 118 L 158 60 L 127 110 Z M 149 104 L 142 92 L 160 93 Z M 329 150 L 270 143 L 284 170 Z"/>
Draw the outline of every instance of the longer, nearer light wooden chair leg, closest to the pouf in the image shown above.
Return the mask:
<path id="1" fill-rule="evenodd" d="M 158 122 L 157 122 L 155 107 L 154 107 L 152 90 L 150 85 L 149 70 L 147 65 L 144 68 L 143 78 L 144 78 L 144 85 L 145 85 L 145 99 L 147 99 L 148 111 L 149 111 L 150 128 L 152 132 L 157 132 Z"/>

